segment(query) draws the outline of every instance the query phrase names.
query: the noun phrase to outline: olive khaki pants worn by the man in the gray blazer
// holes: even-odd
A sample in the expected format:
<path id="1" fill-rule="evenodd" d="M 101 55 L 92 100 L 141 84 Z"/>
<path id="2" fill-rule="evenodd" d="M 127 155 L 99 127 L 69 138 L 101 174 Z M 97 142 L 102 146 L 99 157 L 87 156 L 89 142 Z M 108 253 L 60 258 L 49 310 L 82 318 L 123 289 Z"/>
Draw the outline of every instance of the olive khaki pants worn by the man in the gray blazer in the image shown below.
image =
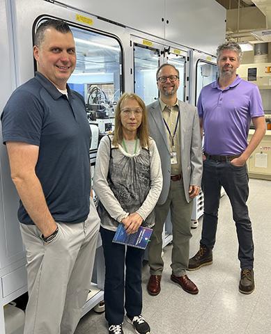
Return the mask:
<path id="1" fill-rule="evenodd" d="M 150 275 L 162 275 L 164 262 L 162 260 L 162 232 L 164 222 L 171 210 L 173 234 L 173 249 L 171 269 L 175 276 L 185 275 L 189 261 L 190 221 L 193 201 L 187 203 L 183 181 L 171 181 L 169 196 L 162 205 L 155 206 L 155 226 L 148 245 L 148 264 Z"/>

